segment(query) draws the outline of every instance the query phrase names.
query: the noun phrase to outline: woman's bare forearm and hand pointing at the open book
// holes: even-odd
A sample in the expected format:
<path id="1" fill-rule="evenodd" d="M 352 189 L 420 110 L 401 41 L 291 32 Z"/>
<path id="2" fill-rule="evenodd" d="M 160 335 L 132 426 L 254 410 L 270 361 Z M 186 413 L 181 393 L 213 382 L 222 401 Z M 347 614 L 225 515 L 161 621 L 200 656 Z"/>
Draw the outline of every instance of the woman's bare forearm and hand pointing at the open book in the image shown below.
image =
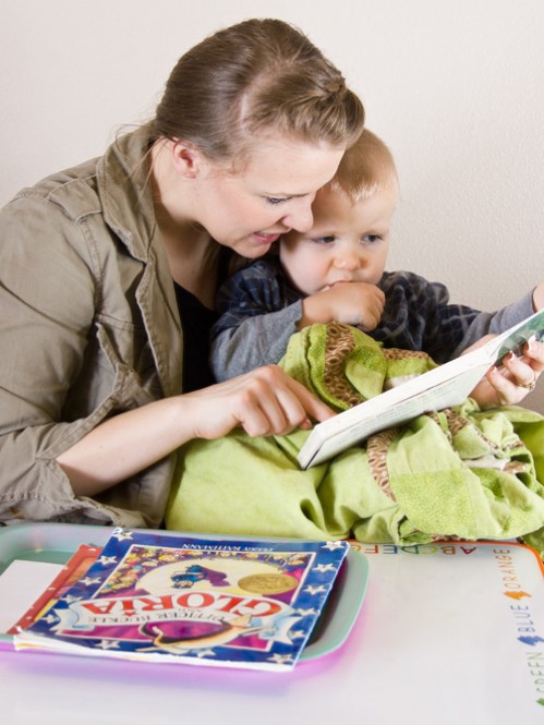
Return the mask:
<path id="1" fill-rule="evenodd" d="M 334 411 L 277 365 L 202 390 L 156 400 L 113 415 L 57 458 L 80 496 L 105 488 L 165 458 L 192 438 L 220 438 L 309 428 Z"/>

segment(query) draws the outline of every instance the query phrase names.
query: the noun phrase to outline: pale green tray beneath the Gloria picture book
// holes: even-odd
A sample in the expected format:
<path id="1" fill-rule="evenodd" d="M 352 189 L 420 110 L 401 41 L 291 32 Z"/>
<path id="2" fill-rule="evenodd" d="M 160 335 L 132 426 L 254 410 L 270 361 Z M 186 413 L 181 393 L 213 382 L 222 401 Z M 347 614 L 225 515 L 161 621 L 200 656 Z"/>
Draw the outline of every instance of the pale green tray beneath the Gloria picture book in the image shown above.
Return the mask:
<path id="1" fill-rule="evenodd" d="M 112 527 L 73 523 L 20 523 L 4 527 L 0 529 L 0 575 L 15 559 L 65 564 L 81 544 L 104 546 L 112 531 Z M 183 532 L 161 531 L 160 533 L 180 535 Z M 219 535 L 221 539 L 234 539 L 226 534 Z M 209 534 L 209 537 L 214 536 Z M 251 539 L 267 541 L 262 536 L 251 536 Z M 301 661 L 322 657 L 337 650 L 346 641 L 361 609 L 367 581 L 366 557 L 351 548 L 338 573 L 326 608 L 301 654 Z M 11 642 L 10 635 L 0 633 L 0 643 L 10 645 Z"/>

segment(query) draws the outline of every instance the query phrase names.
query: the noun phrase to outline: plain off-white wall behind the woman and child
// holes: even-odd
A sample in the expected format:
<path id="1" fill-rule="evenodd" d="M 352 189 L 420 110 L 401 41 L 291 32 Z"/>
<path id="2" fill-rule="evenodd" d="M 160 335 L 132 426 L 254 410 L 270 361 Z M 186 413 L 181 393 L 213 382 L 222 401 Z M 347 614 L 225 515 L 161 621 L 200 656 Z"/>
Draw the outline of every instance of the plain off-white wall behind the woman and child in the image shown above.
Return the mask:
<path id="1" fill-rule="evenodd" d="M 485 310 L 544 278 L 542 0 L 0 0 L 0 204 L 99 155 L 186 48 L 251 16 L 299 25 L 391 147 L 389 268 Z"/>

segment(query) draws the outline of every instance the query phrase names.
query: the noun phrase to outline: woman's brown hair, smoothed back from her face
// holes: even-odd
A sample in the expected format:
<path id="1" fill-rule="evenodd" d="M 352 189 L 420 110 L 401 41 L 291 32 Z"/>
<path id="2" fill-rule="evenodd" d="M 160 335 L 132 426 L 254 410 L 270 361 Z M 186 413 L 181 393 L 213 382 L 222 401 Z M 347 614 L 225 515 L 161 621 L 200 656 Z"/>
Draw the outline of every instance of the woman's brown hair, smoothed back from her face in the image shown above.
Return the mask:
<path id="1" fill-rule="evenodd" d="M 243 156 L 252 134 L 279 131 L 349 146 L 364 108 L 340 71 L 298 28 L 247 20 L 180 58 L 156 110 L 152 141 L 194 143 L 214 160 Z"/>

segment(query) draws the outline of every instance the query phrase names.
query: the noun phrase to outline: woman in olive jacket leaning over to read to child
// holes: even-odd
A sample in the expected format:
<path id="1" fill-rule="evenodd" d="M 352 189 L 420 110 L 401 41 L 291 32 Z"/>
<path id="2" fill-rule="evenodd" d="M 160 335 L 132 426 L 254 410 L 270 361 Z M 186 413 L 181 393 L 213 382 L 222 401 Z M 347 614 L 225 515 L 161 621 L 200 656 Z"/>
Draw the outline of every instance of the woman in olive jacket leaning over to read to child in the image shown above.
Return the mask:
<path id="1" fill-rule="evenodd" d="M 276 367 L 202 385 L 218 282 L 311 226 L 363 117 L 299 31 L 246 21 L 180 59 L 149 124 L 2 210 L 0 520 L 157 527 L 182 443 L 331 414 Z"/>

